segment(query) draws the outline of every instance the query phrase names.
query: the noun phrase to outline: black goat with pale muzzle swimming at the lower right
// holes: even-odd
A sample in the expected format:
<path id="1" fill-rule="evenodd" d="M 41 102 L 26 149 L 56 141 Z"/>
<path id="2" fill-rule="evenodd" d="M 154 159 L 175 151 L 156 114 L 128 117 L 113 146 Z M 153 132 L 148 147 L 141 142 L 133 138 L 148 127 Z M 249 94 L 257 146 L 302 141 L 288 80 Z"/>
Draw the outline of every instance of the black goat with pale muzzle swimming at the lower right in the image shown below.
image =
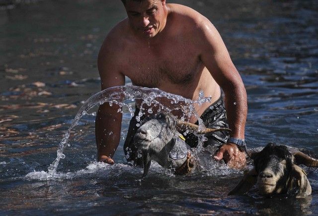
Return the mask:
<path id="1" fill-rule="evenodd" d="M 263 196 L 292 194 L 297 198 L 312 193 L 306 172 L 297 164 L 317 167 L 318 159 L 312 158 L 296 148 L 269 143 L 260 152 L 250 152 L 254 168 L 244 174 L 239 184 L 229 195 L 243 194 L 257 184 Z"/>

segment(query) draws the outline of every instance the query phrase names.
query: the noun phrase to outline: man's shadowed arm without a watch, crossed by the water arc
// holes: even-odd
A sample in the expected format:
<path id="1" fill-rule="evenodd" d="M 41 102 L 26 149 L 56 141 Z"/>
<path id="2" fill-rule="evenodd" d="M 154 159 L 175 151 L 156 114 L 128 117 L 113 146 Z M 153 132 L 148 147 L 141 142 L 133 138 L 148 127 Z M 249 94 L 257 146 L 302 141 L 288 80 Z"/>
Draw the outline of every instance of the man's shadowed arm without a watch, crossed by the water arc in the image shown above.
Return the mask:
<path id="1" fill-rule="evenodd" d="M 101 90 L 125 84 L 125 76 L 120 72 L 119 64 L 116 63 L 118 56 L 114 54 L 115 45 L 112 37 L 108 35 L 98 54 L 97 65 Z M 119 106 L 115 104 L 113 106 L 109 106 L 108 103 L 100 105 L 95 120 L 97 160 L 109 164 L 114 163 L 111 158 L 120 141 L 122 113 L 117 112 L 118 108 Z"/>

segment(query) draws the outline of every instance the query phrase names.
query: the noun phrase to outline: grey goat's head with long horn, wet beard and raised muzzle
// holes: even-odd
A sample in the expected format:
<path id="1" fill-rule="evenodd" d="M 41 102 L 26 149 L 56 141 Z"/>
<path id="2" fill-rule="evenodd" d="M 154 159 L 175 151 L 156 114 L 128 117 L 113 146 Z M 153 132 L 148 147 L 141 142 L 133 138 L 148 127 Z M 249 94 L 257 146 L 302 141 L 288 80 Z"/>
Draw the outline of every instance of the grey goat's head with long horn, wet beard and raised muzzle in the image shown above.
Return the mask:
<path id="1" fill-rule="evenodd" d="M 228 128 L 206 128 L 205 130 L 199 130 L 198 125 L 180 121 L 171 113 L 159 112 L 154 118 L 146 120 L 134 136 L 135 146 L 139 151 L 141 151 L 143 157 L 143 177 L 147 175 L 152 159 L 157 161 L 161 166 L 166 166 L 169 153 L 176 144 L 176 137 L 179 135 L 179 128 L 187 128 L 198 133 L 229 130 Z M 182 156 L 185 158 L 185 161 L 187 156 L 186 144 L 184 141 L 180 142 L 180 140 L 177 143 L 178 149 L 183 149 Z M 173 160 L 176 162 L 183 158 L 176 158 Z M 179 163 L 174 163 L 174 165 L 177 164 Z"/>

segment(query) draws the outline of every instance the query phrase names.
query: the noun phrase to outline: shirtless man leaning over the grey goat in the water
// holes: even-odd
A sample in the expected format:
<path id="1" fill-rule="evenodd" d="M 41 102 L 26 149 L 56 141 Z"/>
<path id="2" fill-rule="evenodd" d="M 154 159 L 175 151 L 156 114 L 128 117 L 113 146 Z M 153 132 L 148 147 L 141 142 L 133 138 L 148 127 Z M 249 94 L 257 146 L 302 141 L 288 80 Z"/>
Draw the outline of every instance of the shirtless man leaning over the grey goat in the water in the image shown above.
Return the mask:
<path id="1" fill-rule="evenodd" d="M 246 91 L 216 28 L 184 5 L 165 0 L 122 2 L 128 17 L 109 32 L 98 54 L 101 89 L 124 85 L 127 76 L 134 85 L 192 100 L 203 90 L 212 101 L 196 108 L 201 116 L 211 105 L 222 102 L 221 87 L 232 132 L 214 158 L 224 159 L 232 167 L 242 166 L 245 153 L 238 145 L 244 143 Z M 95 121 L 98 161 L 109 164 L 114 163 L 120 141 L 122 114 L 117 109 L 108 103 L 101 105 Z M 196 120 L 190 119 L 192 123 Z"/>

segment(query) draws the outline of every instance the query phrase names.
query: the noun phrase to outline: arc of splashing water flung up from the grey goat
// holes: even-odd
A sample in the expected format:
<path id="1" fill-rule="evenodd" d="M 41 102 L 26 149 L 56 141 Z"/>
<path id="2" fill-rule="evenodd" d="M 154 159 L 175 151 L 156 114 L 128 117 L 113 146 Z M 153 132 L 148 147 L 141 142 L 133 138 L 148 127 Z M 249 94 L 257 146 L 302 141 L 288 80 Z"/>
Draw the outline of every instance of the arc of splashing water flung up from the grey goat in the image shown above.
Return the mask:
<path id="1" fill-rule="evenodd" d="M 192 101 L 178 95 L 163 92 L 157 88 L 146 88 L 138 86 L 117 86 L 98 92 L 95 95 L 91 96 L 87 101 L 85 101 L 84 104 L 79 108 L 79 111 L 73 119 L 71 126 L 69 127 L 59 144 L 57 150 L 57 158 L 48 167 L 49 175 L 54 175 L 56 173 L 60 160 L 65 158 L 63 151 L 65 147 L 68 146 L 72 129 L 78 124 L 79 119 L 83 115 L 87 114 L 89 109 L 93 108 L 96 105 L 102 105 L 108 102 L 110 106 L 113 106 L 114 104 L 118 105 L 120 107 L 120 112 L 122 112 L 123 107 L 127 107 L 131 116 L 134 116 L 134 112 L 130 103 L 134 102 L 137 99 L 141 99 L 143 102 L 140 107 L 140 112 L 138 116 L 136 116 L 136 118 L 140 118 L 143 115 L 143 106 L 146 104 L 147 106 L 159 107 L 157 112 L 161 110 L 166 112 L 171 112 L 172 110 L 181 110 L 183 113 L 181 119 L 190 118 L 191 116 L 195 116 L 200 119 L 194 105 L 202 105 L 203 103 L 211 102 L 211 97 L 204 98 L 203 92 L 200 93 L 198 100 Z M 170 100 L 172 102 L 170 103 L 171 106 L 163 105 L 161 103 L 162 99 Z M 153 111 L 154 110 L 152 110 L 151 112 Z M 199 121 L 199 123 L 202 127 L 202 120 Z"/>

